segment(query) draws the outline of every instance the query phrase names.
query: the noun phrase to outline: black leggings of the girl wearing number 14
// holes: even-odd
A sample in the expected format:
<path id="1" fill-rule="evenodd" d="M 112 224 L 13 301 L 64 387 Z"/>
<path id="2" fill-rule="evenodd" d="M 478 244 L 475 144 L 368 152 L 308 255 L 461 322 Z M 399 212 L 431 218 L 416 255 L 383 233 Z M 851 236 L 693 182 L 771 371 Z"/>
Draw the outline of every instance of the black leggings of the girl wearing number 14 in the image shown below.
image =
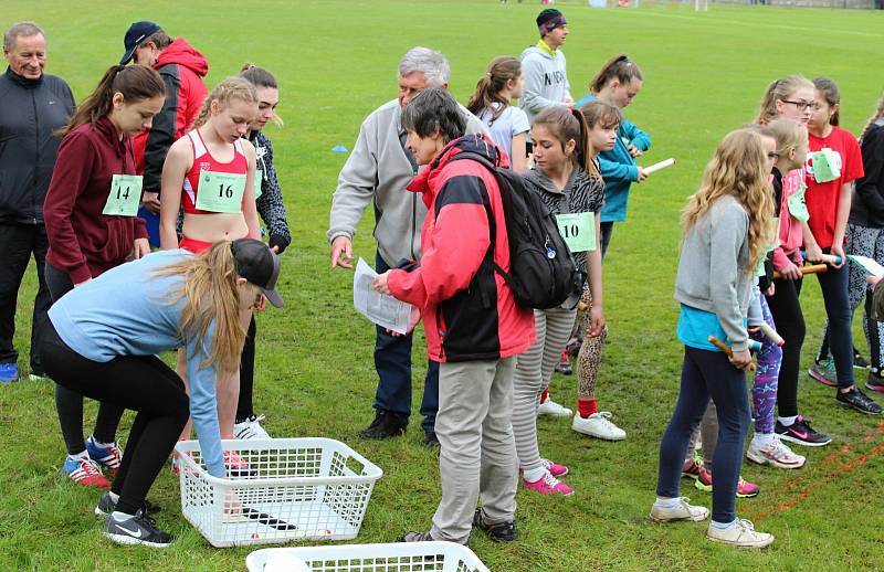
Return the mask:
<path id="1" fill-rule="evenodd" d="M 67 273 L 62 272 L 51 264 L 46 264 L 46 285 L 52 295 L 52 301 L 67 294 L 74 288 Z M 83 438 L 83 395 L 57 383 L 55 378 L 55 409 L 59 411 L 59 424 L 62 427 L 62 437 L 69 455 L 77 455 L 86 449 Z M 117 433 L 123 409 L 109 403 L 98 404 L 98 416 L 92 434 L 99 443 L 112 443 Z"/>

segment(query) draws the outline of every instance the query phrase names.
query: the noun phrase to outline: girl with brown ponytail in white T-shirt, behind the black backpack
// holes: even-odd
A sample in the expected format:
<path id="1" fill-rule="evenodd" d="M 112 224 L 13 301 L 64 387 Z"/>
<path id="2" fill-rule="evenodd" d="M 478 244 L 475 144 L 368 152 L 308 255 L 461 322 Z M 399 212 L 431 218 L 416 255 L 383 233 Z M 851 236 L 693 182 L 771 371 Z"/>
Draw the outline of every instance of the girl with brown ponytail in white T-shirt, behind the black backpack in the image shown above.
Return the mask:
<path id="1" fill-rule="evenodd" d="M 488 128 L 494 142 L 506 151 L 511 168 L 516 172 L 525 172 L 528 168 L 528 116 L 512 105 L 513 99 L 522 97 L 524 86 L 522 63 L 515 57 L 495 57 L 466 104 L 466 108 Z"/>

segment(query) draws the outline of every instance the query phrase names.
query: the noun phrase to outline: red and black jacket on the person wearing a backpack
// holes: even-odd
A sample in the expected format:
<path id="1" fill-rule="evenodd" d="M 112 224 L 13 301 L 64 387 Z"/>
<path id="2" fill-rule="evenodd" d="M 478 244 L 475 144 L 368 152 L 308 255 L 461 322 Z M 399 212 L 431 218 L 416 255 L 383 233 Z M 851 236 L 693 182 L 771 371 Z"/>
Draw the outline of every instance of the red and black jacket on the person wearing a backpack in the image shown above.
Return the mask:
<path id="1" fill-rule="evenodd" d="M 388 279 L 396 298 L 421 309 L 427 352 L 441 362 L 507 358 L 535 341 L 533 311 L 516 304 L 492 264 L 509 269 L 497 181 L 476 161 L 452 160 L 462 151 L 506 166 L 506 156 L 481 135 L 450 142 L 408 187 L 423 194 L 429 210 L 420 264 Z"/>

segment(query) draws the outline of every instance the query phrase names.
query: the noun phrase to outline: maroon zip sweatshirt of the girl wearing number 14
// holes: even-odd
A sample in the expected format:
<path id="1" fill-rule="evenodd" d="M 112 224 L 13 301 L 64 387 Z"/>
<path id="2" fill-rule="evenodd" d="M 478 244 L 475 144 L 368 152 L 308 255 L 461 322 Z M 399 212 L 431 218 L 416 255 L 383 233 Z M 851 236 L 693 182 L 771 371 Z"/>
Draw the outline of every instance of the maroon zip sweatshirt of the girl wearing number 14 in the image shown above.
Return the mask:
<path id="1" fill-rule="evenodd" d="M 144 219 L 102 214 L 114 174 L 135 174 L 131 140 L 119 139 L 102 117 L 69 133 L 59 148 L 43 204 L 49 234 L 46 262 L 78 284 L 126 262 L 135 239 L 146 239 Z"/>

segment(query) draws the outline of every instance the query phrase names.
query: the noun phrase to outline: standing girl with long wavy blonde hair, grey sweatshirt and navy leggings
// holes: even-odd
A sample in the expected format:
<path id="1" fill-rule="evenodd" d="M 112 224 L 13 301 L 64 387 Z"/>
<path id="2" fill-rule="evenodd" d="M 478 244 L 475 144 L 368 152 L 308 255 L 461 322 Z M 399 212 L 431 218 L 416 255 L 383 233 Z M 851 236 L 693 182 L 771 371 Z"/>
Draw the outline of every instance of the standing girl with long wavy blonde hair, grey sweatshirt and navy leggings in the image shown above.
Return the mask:
<path id="1" fill-rule="evenodd" d="M 746 373 L 753 363 L 746 316 L 755 269 L 766 254 L 774 202 L 761 136 L 738 129 L 725 136 L 706 166 L 699 190 L 682 215 L 682 248 L 675 278 L 681 303 L 677 336 L 685 346 L 681 391 L 660 444 L 655 521 L 705 520 L 706 508 L 680 494 L 682 463 L 691 433 L 709 399 L 718 413 L 713 515 L 707 538 L 761 548 L 774 537 L 736 516 L 736 492 L 750 407 Z M 730 354 L 708 341 L 730 346 Z"/>

